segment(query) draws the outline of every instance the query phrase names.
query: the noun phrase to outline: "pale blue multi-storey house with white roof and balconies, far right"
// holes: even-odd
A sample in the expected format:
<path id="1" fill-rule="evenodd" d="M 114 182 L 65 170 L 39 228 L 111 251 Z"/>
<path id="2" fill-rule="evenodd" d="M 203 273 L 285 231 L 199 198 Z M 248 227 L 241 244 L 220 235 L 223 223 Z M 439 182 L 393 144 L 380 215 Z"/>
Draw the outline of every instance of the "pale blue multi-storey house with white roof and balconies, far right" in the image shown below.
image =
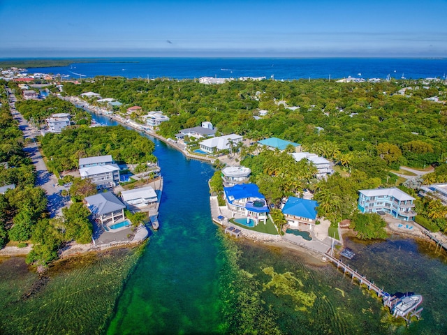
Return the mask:
<path id="1" fill-rule="evenodd" d="M 413 211 L 415 198 L 399 188 L 376 188 L 358 191 L 358 209 L 362 213 L 388 213 L 403 221 L 412 221 L 416 216 Z"/>

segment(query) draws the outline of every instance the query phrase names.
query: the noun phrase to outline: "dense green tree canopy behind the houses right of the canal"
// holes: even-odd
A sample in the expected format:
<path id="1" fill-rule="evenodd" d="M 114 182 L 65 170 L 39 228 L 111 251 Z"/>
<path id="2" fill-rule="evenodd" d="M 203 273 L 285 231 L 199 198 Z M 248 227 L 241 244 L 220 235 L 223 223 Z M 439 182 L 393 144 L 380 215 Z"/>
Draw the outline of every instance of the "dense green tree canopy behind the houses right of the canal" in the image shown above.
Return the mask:
<path id="1" fill-rule="evenodd" d="M 400 94 L 408 87 L 412 89 Z M 447 151 L 447 107 L 425 100 L 433 95 L 447 100 L 446 85 L 441 82 L 263 80 L 205 85 L 192 80 L 96 77 L 81 85 L 66 83 L 64 90 L 68 95 L 95 91 L 116 98 L 124 103 L 123 111 L 130 105 L 141 106 L 143 112 L 162 110 L 170 117 L 160 126 L 165 137 L 211 121 L 218 133 L 237 133 L 253 140 L 276 136 L 307 147 L 320 144 L 321 154 L 331 159 L 337 159 L 338 153 L 367 151 L 386 165 L 423 167 L 438 163 Z M 268 114 L 254 119 L 259 109 Z"/>

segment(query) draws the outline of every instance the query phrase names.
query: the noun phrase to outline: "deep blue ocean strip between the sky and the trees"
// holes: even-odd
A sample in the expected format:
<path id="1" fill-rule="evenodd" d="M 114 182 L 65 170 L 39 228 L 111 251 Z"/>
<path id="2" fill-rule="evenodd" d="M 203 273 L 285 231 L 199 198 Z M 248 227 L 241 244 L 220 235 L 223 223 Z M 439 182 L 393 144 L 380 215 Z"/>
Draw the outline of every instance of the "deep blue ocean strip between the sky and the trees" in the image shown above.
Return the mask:
<path id="1" fill-rule="evenodd" d="M 24 60 L 25 58 L 20 58 Z M 67 59 L 38 58 L 38 59 Z M 1 59 L 3 61 L 11 59 Z M 15 60 L 19 60 L 18 58 Z M 27 59 L 29 60 L 29 59 Z M 86 62 L 85 62 L 86 61 Z M 59 74 L 66 78 L 101 75 L 127 78 L 196 79 L 199 77 L 265 77 L 274 80 L 342 79 L 446 79 L 444 58 L 230 58 L 230 57 L 86 57 L 68 66 L 29 68 L 29 73 Z"/>

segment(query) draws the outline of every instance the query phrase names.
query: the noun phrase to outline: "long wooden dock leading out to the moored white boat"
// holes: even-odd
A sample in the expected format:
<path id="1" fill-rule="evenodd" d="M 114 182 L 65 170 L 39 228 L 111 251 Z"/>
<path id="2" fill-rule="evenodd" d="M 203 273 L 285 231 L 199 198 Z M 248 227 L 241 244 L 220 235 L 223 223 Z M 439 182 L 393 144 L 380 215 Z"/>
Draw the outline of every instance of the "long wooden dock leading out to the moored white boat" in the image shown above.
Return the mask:
<path id="1" fill-rule="evenodd" d="M 330 250 L 331 249 L 329 249 L 329 251 Z M 342 269 L 344 274 L 349 274 L 352 280 L 357 279 L 360 286 L 365 285 L 369 291 L 372 290 L 376 292 L 377 296 L 382 298 L 383 306 L 388 306 L 390 308 L 390 313 L 393 313 L 393 308 L 400 301 L 400 298 L 396 297 L 395 295 L 391 296 L 388 292 L 385 292 L 383 289 L 379 288 L 374 281 L 369 281 L 365 276 L 359 274 L 357 270 L 352 269 L 349 265 L 344 264 L 341 260 L 338 260 L 334 256 L 330 255 L 329 251 L 326 251 L 325 253 L 326 259 L 337 265 L 337 269 Z M 420 319 L 420 313 L 424 308 L 421 307 L 416 309 L 417 307 L 418 306 L 414 306 L 414 308 L 411 308 L 411 310 L 409 310 L 405 315 L 395 315 L 395 318 L 403 318 L 406 321 L 406 325 L 409 325 L 413 316 Z"/>

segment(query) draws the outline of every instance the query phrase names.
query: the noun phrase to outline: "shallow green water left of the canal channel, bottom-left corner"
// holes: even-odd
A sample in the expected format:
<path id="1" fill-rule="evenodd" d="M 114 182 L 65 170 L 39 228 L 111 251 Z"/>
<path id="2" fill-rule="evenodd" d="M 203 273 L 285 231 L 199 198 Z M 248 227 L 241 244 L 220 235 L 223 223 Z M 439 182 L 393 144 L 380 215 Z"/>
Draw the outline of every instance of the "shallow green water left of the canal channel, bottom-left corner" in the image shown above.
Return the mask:
<path id="1" fill-rule="evenodd" d="M 0 334 L 101 334 L 140 251 L 71 258 L 44 278 L 24 258 L 0 264 Z"/>

